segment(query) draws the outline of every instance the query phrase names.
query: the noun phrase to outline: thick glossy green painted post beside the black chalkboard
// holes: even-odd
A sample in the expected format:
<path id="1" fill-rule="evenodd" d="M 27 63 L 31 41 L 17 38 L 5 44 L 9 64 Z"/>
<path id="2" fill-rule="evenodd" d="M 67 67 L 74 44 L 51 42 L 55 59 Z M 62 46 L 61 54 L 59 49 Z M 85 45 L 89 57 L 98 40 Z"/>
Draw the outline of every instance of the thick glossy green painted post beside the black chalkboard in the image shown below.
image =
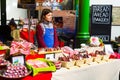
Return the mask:
<path id="1" fill-rule="evenodd" d="M 90 0 L 79 0 L 79 26 L 77 27 L 75 47 L 79 48 L 81 43 L 86 43 L 89 35 L 89 21 L 90 21 Z"/>

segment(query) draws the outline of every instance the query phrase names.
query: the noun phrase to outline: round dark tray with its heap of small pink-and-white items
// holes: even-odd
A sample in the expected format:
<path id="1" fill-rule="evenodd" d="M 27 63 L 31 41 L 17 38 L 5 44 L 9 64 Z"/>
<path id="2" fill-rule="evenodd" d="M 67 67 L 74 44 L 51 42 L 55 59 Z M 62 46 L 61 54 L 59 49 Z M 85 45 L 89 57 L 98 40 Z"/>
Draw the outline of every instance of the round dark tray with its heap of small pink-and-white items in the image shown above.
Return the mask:
<path id="1" fill-rule="evenodd" d="M 0 76 L 6 79 L 21 79 L 28 76 L 31 73 L 24 65 L 21 64 L 9 64 L 5 69 L 0 71 Z"/>

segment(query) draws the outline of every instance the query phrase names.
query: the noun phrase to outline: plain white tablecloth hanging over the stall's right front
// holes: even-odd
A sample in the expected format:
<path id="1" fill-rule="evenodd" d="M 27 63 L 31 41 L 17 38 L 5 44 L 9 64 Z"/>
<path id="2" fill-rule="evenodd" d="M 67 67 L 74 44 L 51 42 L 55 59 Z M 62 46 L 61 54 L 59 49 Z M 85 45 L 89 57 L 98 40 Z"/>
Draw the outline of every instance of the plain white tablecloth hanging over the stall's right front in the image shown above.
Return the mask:
<path id="1" fill-rule="evenodd" d="M 51 80 L 119 80 L 119 71 L 120 59 L 114 59 L 79 68 L 61 68 L 52 74 Z"/>

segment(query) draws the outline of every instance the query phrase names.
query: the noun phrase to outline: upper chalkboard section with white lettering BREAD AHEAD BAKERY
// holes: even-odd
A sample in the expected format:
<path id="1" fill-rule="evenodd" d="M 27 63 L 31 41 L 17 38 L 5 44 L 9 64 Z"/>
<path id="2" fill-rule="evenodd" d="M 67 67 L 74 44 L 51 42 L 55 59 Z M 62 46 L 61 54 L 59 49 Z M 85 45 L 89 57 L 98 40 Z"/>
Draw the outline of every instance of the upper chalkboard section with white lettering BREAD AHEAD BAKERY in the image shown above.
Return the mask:
<path id="1" fill-rule="evenodd" d="M 111 5 L 92 5 L 92 23 L 110 24 L 111 10 Z"/>

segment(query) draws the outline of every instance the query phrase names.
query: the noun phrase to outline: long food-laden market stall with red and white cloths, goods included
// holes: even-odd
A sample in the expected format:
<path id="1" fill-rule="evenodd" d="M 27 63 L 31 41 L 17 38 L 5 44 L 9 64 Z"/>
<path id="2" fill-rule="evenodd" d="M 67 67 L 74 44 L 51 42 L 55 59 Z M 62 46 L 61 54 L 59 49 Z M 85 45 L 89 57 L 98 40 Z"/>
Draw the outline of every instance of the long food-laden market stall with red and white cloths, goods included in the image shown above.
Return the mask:
<path id="1" fill-rule="evenodd" d="M 88 44 L 72 49 L 36 48 L 25 40 L 12 41 L 9 47 L 1 43 L 0 79 L 119 80 L 120 55 L 106 54 L 97 37 Z"/>

